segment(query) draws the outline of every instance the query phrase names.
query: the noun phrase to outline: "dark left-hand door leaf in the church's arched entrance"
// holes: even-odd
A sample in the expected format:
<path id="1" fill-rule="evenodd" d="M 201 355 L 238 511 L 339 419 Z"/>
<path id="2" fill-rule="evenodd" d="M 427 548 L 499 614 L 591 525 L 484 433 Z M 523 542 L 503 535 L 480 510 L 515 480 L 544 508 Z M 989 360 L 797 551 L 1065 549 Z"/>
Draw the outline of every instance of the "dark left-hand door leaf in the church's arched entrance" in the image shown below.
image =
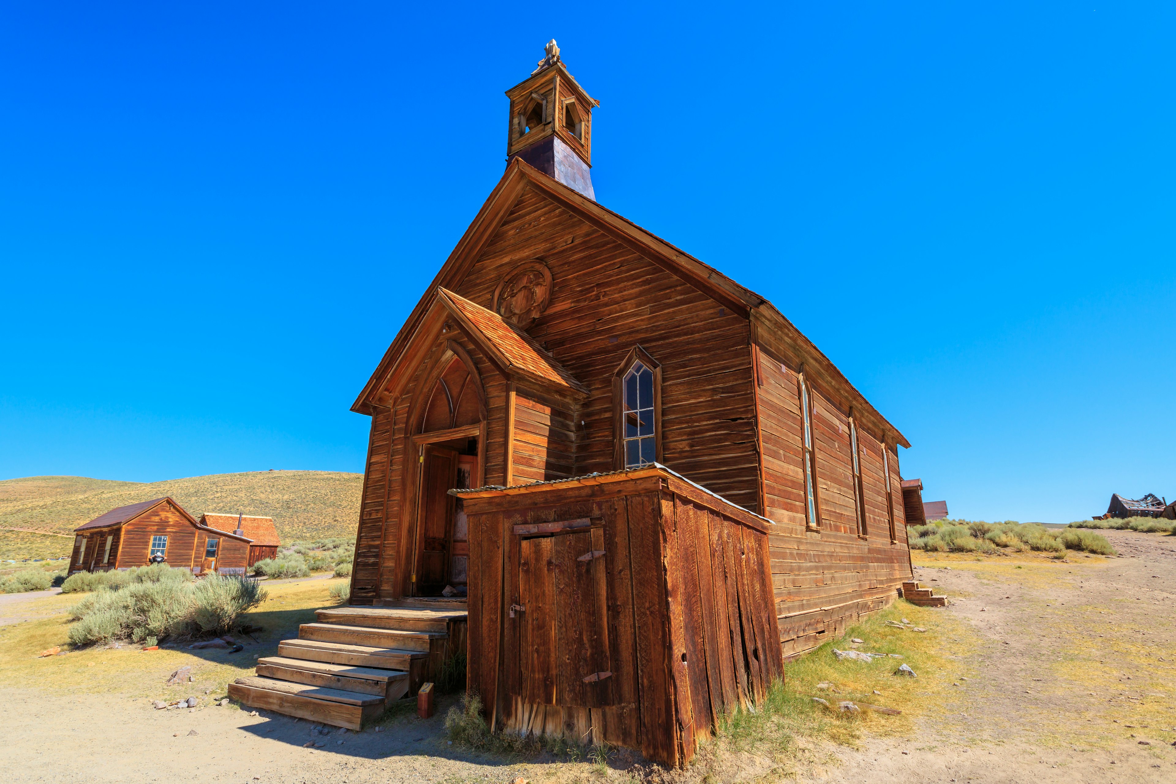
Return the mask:
<path id="1" fill-rule="evenodd" d="M 449 579 L 449 542 L 453 538 L 455 498 L 449 490 L 457 480 L 457 453 L 426 445 L 421 460 L 421 509 L 417 523 L 419 555 L 415 596 L 437 596 Z"/>

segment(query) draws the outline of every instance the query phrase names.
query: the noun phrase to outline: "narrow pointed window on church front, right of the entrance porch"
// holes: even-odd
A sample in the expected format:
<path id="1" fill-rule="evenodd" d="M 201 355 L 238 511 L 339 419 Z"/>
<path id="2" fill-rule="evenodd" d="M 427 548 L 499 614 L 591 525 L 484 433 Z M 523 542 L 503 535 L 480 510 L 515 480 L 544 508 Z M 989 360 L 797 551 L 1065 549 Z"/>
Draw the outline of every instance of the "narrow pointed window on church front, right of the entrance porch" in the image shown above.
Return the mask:
<path id="1" fill-rule="evenodd" d="M 661 364 L 635 346 L 613 375 L 617 469 L 662 461 Z"/>

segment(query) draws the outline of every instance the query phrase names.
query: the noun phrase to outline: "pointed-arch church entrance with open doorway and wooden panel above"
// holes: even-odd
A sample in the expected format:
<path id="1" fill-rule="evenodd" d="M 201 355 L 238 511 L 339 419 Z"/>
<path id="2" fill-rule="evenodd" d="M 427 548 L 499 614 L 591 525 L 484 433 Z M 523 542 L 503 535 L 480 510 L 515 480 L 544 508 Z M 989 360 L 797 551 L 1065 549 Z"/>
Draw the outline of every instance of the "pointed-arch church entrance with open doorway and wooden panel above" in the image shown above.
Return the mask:
<path id="1" fill-rule="evenodd" d="M 417 503 L 407 592 L 465 596 L 469 532 L 461 501 L 449 490 L 482 484 L 486 393 L 469 355 L 453 341 L 422 389 L 413 417 Z"/>

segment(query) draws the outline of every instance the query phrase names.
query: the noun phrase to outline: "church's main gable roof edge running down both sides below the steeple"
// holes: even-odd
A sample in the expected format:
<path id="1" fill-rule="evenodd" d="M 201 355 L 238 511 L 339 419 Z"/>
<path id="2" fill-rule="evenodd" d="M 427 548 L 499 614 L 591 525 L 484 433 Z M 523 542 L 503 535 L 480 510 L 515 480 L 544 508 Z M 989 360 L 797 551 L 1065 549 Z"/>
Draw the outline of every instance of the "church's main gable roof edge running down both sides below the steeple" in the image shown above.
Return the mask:
<path id="1" fill-rule="evenodd" d="M 427 316 L 434 302 L 434 293 L 439 288 L 453 289 L 461 283 L 469 269 L 476 263 L 482 248 L 494 236 L 494 232 L 509 214 L 510 208 L 526 188 L 533 188 L 542 193 L 589 226 L 603 232 L 634 253 L 640 254 L 654 264 L 694 286 L 703 294 L 730 308 L 734 313 L 750 319 L 753 322 L 762 322 L 770 330 L 779 331 L 802 355 L 803 359 L 801 361 L 806 364 L 806 373 L 814 376 L 821 386 L 834 387 L 837 393 L 843 394 L 846 402 L 855 408 L 860 418 L 866 423 L 873 423 L 877 430 L 883 433 L 886 440 L 896 442 L 903 447 L 910 447 L 910 443 L 898 429 L 890 424 L 866 400 L 864 395 L 857 391 L 829 357 L 768 300 L 740 286 L 714 267 L 699 261 L 666 240 L 647 232 L 633 221 L 601 207 L 592 199 L 547 176 L 521 158 L 514 158 L 507 165 L 507 170 L 503 173 L 502 179 L 499 180 L 494 190 L 487 196 L 474 221 L 466 229 L 466 233 L 441 266 L 441 269 L 437 270 L 433 282 L 429 283 L 428 289 L 426 289 L 416 307 L 413 308 L 413 311 L 385 353 L 380 364 L 360 391 L 359 397 L 352 406 L 353 411 L 360 414 L 372 413 L 370 397 L 376 394 L 376 390 L 400 361 L 409 339 Z"/>

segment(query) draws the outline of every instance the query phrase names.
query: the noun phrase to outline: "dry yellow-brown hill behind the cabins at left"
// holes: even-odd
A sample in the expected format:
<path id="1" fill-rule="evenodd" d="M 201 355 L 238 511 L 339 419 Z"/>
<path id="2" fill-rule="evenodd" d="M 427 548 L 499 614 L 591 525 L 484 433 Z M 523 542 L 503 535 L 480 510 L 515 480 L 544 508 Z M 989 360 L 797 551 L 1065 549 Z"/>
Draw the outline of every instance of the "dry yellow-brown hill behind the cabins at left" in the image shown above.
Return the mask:
<path id="1" fill-rule="evenodd" d="M 67 555 L 73 540 L 51 534 L 68 535 L 108 509 L 160 496 L 172 496 L 196 517 L 206 511 L 273 517 L 287 542 L 354 536 L 362 487 L 362 474 L 339 471 L 250 471 L 163 482 L 83 476 L 5 480 L 0 529 L 8 530 L 0 530 L 0 557 Z"/>

